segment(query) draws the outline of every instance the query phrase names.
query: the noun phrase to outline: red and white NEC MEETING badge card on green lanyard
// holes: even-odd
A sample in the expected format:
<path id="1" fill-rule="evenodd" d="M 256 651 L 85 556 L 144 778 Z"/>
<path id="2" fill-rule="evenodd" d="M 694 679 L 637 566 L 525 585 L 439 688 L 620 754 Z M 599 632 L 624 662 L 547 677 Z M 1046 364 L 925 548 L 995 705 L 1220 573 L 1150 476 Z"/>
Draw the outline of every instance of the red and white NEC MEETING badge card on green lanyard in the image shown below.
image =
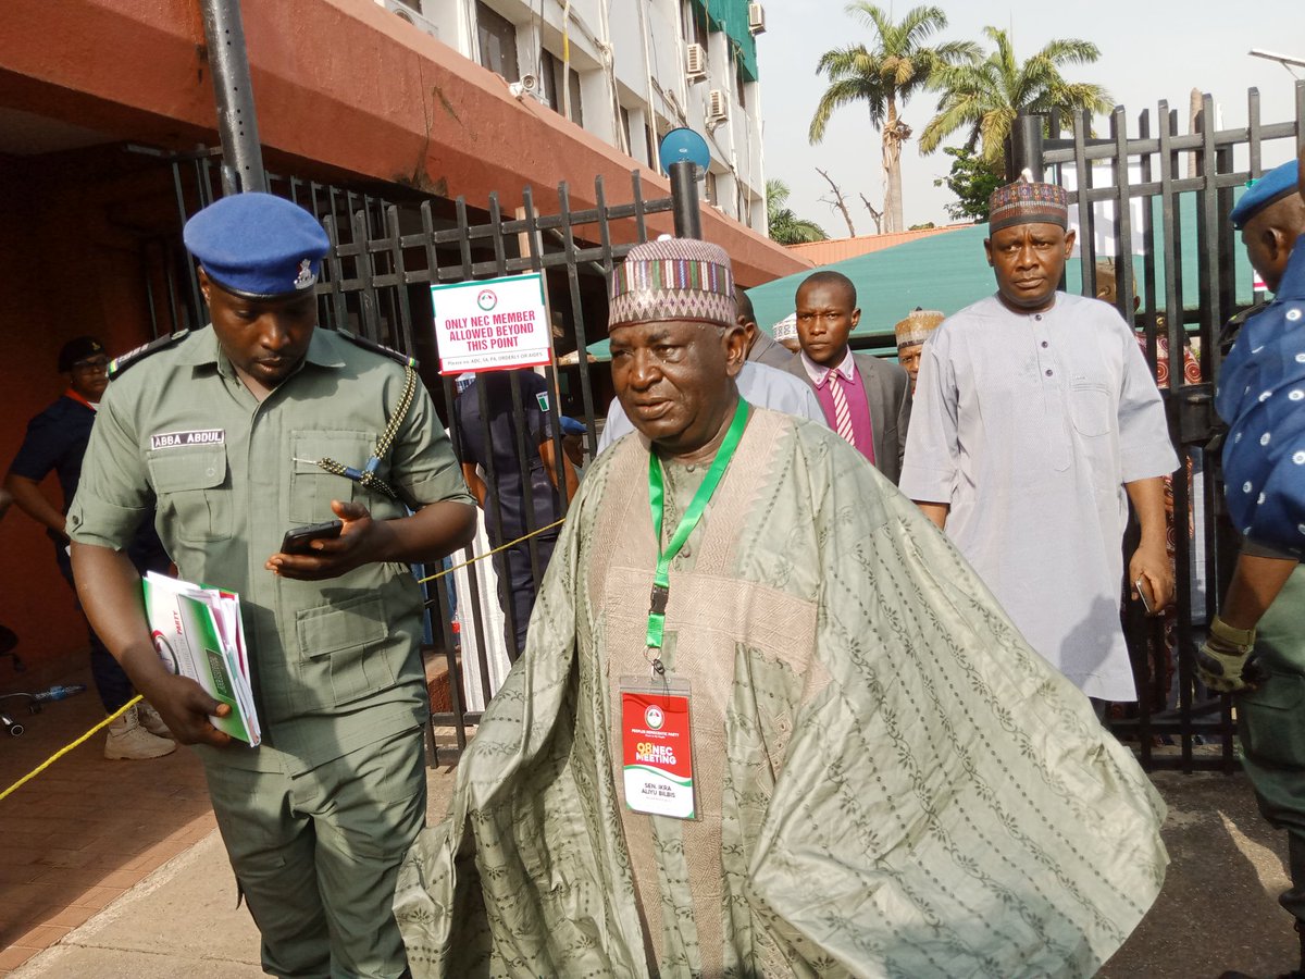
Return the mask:
<path id="1" fill-rule="evenodd" d="M 689 681 L 621 677 L 625 805 L 650 816 L 692 820 L 693 744 Z"/>

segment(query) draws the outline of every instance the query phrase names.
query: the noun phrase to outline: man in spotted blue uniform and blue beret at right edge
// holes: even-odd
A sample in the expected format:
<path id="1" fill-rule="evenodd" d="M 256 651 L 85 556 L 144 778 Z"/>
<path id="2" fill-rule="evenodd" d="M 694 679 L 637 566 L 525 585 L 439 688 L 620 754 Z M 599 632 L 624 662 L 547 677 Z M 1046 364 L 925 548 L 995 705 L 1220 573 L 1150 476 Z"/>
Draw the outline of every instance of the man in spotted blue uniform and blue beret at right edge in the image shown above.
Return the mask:
<path id="1" fill-rule="evenodd" d="M 1238 531 L 1237 567 L 1197 662 L 1202 680 L 1237 694 L 1242 764 L 1265 818 L 1288 833 L 1305 979 L 1305 200 L 1295 161 L 1270 171 L 1232 210 L 1274 302 L 1241 328 L 1219 377 L 1229 424 L 1224 489 Z M 1254 657 L 1254 663 L 1249 660 Z M 1240 974 L 1232 972 L 1228 976 Z"/>

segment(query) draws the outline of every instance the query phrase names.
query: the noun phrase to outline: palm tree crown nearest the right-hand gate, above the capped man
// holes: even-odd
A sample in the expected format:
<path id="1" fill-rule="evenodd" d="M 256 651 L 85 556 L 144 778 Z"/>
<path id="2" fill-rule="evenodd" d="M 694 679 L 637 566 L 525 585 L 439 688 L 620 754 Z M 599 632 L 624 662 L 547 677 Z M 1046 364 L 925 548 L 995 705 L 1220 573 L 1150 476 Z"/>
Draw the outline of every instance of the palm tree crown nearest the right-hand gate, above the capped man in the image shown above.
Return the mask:
<path id="1" fill-rule="evenodd" d="M 1111 110 L 1111 94 L 1103 86 L 1069 82 L 1061 74 L 1064 65 L 1091 64 L 1101 56 L 1090 40 L 1049 40 L 1021 64 L 1006 31 L 984 27 L 984 34 L 997 46 L 988 57 L 944 65 L 929 78 L 929 87 L 942 95 L 938 114 L 920 133 L 920 153 L 933 153 L 945 138 L 966 129 L 966 148 L 972 151 L 980 146 L 983 158 L 996 164 L 1021 112 Z"/>

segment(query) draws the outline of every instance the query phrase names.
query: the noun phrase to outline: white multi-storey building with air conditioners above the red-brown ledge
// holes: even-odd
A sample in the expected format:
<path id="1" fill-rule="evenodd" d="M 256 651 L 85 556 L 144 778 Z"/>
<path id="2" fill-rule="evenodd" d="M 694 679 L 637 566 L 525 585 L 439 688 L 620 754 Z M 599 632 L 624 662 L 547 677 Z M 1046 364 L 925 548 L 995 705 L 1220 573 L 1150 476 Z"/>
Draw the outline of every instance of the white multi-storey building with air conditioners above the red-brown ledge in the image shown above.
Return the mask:
<path id="1" fill-rule="evenodd" d="M 669 129 L 703 134 L 707 202 L 765 231 L 754 43 L 765 30 L 762 4 L 376 1 L 654 171 Z"/>

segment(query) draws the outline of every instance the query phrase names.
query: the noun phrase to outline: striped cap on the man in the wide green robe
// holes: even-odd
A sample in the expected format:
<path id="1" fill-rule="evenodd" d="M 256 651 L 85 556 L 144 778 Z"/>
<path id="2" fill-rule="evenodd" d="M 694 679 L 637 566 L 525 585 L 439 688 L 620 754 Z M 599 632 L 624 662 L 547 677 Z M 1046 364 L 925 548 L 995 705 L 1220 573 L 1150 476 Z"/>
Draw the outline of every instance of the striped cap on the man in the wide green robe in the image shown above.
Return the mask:
<path id="1" fill-rule="evenodd" d="M 608 298 L 608 330 L 664 320 L 733 326 L 739 315 L 729 256 L 693 238 L 634 245 L 612 270 Z"/>

